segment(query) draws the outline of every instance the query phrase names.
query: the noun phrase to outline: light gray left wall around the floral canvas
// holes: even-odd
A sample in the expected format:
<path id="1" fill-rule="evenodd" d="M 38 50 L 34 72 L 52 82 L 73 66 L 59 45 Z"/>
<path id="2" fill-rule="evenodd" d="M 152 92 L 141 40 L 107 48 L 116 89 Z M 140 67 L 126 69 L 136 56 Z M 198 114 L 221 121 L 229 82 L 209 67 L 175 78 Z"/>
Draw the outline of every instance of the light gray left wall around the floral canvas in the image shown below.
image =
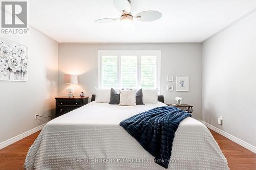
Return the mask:
<path id="1" fill-rule="evenodd" d="M 35 114 L 54 114 L 58 43 L 30 28 L 28 35 L 1 35 L 28 46 L 28 81 L 0 81 L 0 142 L 44 123 Z M 48 119 L 43 119 L 47 121 Z"/>

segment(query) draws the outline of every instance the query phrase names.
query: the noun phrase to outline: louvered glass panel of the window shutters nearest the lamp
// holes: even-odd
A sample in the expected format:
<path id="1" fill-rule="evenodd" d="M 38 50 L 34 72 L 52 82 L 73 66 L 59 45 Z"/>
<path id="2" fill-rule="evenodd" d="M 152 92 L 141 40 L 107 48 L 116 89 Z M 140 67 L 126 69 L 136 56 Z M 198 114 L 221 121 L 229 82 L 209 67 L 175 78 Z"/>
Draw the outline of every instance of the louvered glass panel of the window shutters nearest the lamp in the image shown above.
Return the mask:
<path id="1" fill-rule="evenodd" d="M 102 87 L 117 87 L 117 56 L 102 56 Z"/>

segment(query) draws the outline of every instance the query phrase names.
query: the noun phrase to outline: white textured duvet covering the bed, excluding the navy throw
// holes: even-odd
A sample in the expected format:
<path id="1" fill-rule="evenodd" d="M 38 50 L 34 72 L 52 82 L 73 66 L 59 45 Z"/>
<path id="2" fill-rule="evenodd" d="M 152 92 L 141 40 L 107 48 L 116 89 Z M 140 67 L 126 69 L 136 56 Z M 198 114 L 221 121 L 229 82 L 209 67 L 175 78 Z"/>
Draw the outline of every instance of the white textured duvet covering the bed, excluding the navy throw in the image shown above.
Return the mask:
<path id="1" fill-rule="evenodd" d="M 46 124 L 31 146 L 26 169 L 165 169 L 119 123 L 162 103 L 137 106 L 91 102 Z M 228 169 L 208 129 L 185 118 L 175 133 L 168 169 Z"/>

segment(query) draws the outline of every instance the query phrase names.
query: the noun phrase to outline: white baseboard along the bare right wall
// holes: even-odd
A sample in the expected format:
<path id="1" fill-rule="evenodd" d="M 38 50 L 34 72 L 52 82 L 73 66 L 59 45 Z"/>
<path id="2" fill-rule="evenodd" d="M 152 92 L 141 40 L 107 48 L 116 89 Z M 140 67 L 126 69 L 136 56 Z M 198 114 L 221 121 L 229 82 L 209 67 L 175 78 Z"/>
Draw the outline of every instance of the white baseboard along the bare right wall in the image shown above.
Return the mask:
<path id="1" fill-rule="evenodd" d="M 210 124 L 208 124 L 208 123 L 206 123 L 202 120 L 200 122 L 202 122 L 207 128 L 221 134 L 222 136 L 225 136 L 226 138 L 232 140 L 233 142 L 238 143 L 242 147 L 250 150 L 251 152 L 256 153 L 256 147 L 254 147 L 252 144 L 247 143 L 246 141 L 243 141 L 243 140 L 237 138 L 236 136 L 230 135 L 229 133 L 224 132 L 223 130 L 221 130 L 219 128 L 216 128 L 215 126 L 212 126 L 212 125 L 210 125 Z"/>

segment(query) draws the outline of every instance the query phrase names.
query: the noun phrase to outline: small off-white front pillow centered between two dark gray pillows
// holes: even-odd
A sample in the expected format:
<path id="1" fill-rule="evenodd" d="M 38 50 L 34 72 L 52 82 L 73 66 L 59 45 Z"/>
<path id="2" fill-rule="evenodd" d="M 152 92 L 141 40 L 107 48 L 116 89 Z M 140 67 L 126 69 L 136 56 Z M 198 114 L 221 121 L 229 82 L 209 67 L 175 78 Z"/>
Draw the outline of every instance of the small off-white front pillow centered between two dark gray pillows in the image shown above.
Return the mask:
<path id="1" fill-rule="evenodd" d="M 120 90 L 121 106 L 136 106 L 136 90 Z"/>

